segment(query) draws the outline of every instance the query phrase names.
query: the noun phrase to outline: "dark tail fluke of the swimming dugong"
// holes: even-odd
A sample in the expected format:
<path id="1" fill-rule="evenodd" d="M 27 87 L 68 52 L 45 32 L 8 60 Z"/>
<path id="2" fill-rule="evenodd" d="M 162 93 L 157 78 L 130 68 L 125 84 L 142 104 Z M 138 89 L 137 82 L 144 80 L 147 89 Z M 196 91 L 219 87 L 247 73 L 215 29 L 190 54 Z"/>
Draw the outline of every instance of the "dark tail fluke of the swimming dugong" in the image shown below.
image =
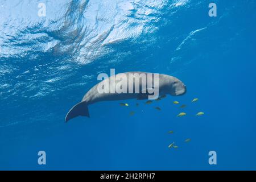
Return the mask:
<path id="1" fill-rule="evenodd" d="M 68 111 L 66 115 L 65 122 L 68 122 L 70 119 L 78 117 L 79 115 L 90 117 L 88 105 L 86 102 L 79 102 Z"/>

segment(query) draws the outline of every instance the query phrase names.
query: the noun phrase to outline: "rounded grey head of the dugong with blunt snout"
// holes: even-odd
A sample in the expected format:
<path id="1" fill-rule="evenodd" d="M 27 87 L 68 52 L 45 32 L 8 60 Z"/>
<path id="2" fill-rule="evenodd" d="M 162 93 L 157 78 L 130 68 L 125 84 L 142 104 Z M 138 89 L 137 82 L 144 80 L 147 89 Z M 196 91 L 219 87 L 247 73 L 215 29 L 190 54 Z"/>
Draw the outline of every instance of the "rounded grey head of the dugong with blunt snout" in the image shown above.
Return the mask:
<path id="1" fill-rule="evenodd" d="M 187 88 L 185 86 L 185 84 L 180 81 L 178 78 L 170 76 L 170 78 L 168 79 L 169 83 L 168 83 L 168 92 L 172 95 L 172 96 L 182 96 L 183 94 L 185 94 L 187 92 Z"/>

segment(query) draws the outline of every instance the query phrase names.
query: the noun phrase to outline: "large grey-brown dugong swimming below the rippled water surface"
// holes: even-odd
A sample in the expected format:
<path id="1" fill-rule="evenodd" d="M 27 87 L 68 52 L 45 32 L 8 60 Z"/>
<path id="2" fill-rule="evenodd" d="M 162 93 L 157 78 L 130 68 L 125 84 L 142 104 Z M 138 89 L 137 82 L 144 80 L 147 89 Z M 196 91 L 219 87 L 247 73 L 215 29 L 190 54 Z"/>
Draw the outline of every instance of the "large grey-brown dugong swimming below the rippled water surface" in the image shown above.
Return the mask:
<path id="1" fill-rule="evenodd" d="M 113 90 L 113 88 L 118 88 L 119 90 Z M 170 75 L 147 72 L 118 73 L 94 85 L 85 94 L 82 101 L 69 110 L 65 117 L 65 122 L 78 116 L 90 117 L 88 110 L 88 105 L 90 104 L 134 98 L 146 100 L 149 96 L 152 96 L 153 91 L 154 93 L 158 91 L 156 97 L 163 96 L 164 94 L 181 96 L 186 93 L 187 89 L 182 81 Z"/>

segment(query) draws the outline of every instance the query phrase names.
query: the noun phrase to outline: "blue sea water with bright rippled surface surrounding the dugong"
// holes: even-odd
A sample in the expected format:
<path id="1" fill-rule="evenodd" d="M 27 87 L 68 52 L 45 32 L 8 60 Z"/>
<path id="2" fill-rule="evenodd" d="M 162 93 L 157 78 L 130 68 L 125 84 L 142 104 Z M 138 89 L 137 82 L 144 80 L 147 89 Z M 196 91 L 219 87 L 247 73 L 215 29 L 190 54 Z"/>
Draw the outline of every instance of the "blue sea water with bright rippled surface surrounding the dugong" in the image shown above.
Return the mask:
<path id="1" fill-rule="evenodd" d="M 0 169 L 255 170 L 255 10 L 253 0 L 0 0 Z M 172 75 L 187 93 L 98 102 L 64 123 L 110 68 Z"/>

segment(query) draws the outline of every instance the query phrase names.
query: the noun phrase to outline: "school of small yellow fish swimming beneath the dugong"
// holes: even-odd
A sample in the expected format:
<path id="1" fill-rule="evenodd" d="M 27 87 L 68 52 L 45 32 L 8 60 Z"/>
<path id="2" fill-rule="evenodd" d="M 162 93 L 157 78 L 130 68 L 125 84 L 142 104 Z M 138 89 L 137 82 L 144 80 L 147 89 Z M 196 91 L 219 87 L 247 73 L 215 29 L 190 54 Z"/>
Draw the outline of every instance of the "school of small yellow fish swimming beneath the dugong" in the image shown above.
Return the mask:
<path id="1" fill-rule="evenodd" d="M 165 98 L 165 97 L 166 97 L 166 95 L 160 96 L 160 97 L 156 98 L 155 101 L 160 101 L 160 100 L 162 100 L 162 98 Z M 192 102 L 192 103 L 193 103 L 193 102 L 197 102 L 198 100 L 199 100 L 199 98 L 193 98 L 193 100 L 192 100 L 191 102 Z M 174 105 L 179 105 L 179 104 L 180 104 L 179 101 L 173 101 L 172 103 L 173 103 Z M 150 104 L 152 104 L 152 100 L 148 100 L 148 101 L 146 101 L 144 104 L 150 105 Z M 127 103 L 120 103 L 120 105 L 121 105 L 121 106 L 126 106 L 126 107 L 129 106 L 129 104 L 127 104 Z M 136 106 L 138 107 L 139 104 L 136 103 Z M 183 104 L 183 105 L 180 106 L 181 109 L 184 109 L 185 107 L 187 107 L 187 105 L 185 105 L 185 104 Z M 161 110 L 160 107 L 154 107 L 154 108 L 155 108 L 156 110 L 159 110 L 159 111 Z M 135 111 L 130 111 L 130 115 L 134 115 L 134 114 L 135 114 Z M 184 117 L 185 115 L 187 115 L 187 113 L 185 113 L 185 112 L 180 112 L 179 114 L 177 114 L 177 117 Z M 201 115 L 204 115 L 204 112 L 199 111 L 198 113 L 195 114 L 195 116 L 197 116 L 197 117 L 199 117 L 199 116 L 201 116 Z M 171 131 L 168 131 L 168 134 L 174 134 L 174 131 L 172 131 L 172 130 L 171 130 Z M 191 138 L 185 139 L 184 142 L 185 142 L 185 143 L 191 142 Z M 175 145 L 175 142 L 172 142 L 172 143 L 168 146 L 168 148 L 178 148 L 178 146 Z"/>

